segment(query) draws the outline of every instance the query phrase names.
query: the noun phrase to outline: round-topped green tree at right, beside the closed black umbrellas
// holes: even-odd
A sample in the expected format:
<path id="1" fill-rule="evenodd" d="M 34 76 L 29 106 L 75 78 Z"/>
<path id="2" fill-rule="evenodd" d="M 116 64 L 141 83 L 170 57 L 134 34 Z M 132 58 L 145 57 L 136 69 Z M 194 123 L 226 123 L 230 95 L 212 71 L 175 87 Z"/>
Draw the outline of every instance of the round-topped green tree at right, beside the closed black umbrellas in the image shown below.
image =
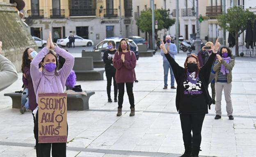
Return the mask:
<path id="1" fill-rule="evenodd" d="M 219 26 L 229 31 L 235 37 L 235 55 L 239 56 L 238 52 L 238 37 L 243 33 L 247 26 L 247 20 L 255 19 L 254 13 L 248 9 L 244 10 L 240 6 L 235 6 L 227 9 L 226 14 L 218 15 L 217 20 Z M 252 22 L 253 23 L 253 22 Z"/>

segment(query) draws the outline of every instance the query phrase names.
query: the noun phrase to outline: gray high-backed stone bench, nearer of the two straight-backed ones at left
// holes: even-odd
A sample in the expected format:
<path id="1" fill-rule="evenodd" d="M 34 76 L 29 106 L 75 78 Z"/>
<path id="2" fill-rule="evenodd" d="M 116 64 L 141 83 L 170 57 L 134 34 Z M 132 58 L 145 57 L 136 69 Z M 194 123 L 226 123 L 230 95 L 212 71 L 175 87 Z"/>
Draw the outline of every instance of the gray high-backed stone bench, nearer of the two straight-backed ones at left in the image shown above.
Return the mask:
<path id="1" fill-rule="evenodd" d="M 92 57 L 75 57 L 76 80 L 103 80 L 104 68 L 94 68 Z"/>

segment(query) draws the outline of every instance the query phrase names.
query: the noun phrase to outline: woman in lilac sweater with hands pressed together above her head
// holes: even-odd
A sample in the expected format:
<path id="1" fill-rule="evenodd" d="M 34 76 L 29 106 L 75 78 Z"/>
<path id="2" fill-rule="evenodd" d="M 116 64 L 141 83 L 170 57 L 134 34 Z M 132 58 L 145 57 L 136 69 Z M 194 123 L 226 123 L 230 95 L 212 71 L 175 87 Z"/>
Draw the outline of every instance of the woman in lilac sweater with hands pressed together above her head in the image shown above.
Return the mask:
<path id="1" fill-rule="evenodd" d="M 57 71 L 59 63 L 57 55 L 65 58 L 66 62 L 62 69 Z M 42 65 L 42 71 L 39 71 L 39 64 Z M 38 102 L 39 93 L 63 93 L 66 79 L 73 69 L 74 57 L 64 49 L 55 46 L 52 41 L 51 33 L 44 47 L 30 64 L 31 77 Z M 34 135 L 37 140 L 37 157 L 50 157 L 52 146 L 52 157 L 66 157 L 66 143 L 38 143 L 38 111 L 34 125 Z"/>

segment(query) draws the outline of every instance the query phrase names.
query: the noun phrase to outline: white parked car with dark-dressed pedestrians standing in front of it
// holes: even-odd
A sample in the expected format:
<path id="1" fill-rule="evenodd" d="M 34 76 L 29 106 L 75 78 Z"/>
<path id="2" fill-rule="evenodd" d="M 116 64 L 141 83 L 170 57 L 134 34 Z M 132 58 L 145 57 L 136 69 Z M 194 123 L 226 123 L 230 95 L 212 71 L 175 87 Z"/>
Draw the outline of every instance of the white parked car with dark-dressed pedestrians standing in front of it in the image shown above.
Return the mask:
<path id="1" fill-rule="evenodd" d="M 69 46 L 69 37 L 65 37 L 63 39 L 58 39 L 57 44 L 61 45 L 62 47 Z M 73 43 L 72 43 L 73 45 Z M 75 35 L 75 46 L 92 46 L 94 42 L 89 39 L 84 39 L 80 36 Z"/>

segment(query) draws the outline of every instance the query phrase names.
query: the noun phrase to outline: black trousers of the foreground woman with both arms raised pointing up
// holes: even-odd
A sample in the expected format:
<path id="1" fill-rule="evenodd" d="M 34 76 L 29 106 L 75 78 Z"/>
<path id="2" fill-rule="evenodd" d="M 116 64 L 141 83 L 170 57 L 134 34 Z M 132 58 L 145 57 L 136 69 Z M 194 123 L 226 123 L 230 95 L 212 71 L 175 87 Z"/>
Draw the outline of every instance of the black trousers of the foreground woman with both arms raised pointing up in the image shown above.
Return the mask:
<path id="1" fill-rule="evenodd" d="M 183 142 L 185 146 L 185 153 L 187 154 L 190 154 L 191 151 L 192 155 L 199 154 L 201 144 L 201 130 L 204 117 L 205 114 L 180 114 Z M 191 135 L 191 130 L 193 132 L 193 137 Z"/>

